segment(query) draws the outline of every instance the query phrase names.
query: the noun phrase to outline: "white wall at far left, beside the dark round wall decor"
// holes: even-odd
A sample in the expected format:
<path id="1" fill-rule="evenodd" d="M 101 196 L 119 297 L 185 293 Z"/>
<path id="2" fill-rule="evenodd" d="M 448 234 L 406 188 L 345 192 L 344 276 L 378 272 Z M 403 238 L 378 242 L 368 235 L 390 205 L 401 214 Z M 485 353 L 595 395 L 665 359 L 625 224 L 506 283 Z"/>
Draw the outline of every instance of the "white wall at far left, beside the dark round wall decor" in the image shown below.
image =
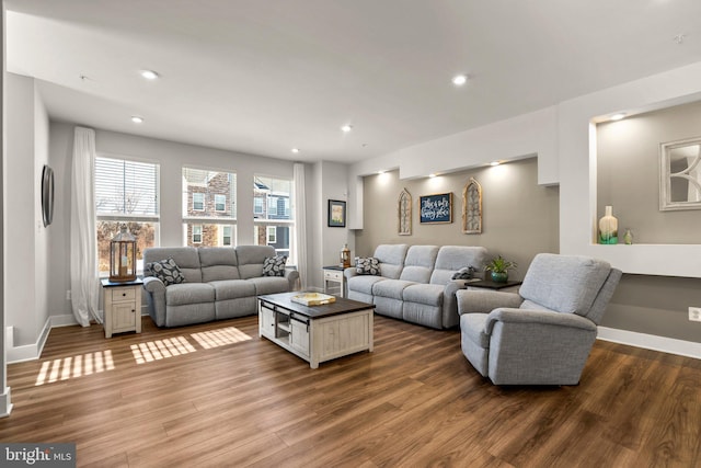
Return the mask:
<path id="1" fill-rule="evenodd" d="M 48 232 L 42 224 L 41 176 L 48 162 L 48 118 L 34 79 L 7 73 L 4 184 L 5 327 L 14 346 L 36 343 L 47 313 Z"/>

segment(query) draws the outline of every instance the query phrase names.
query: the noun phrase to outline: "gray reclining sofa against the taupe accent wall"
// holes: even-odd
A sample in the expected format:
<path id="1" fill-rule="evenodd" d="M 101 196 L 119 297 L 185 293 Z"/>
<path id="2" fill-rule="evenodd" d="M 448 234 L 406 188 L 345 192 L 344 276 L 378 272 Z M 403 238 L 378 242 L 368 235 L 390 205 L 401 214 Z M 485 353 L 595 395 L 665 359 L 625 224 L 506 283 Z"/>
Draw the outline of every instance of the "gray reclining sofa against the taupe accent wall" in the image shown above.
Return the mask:
<path id="1" fill-rule="evenodd" d="M 344 271 L 348 298 L 374 304 L 383 316 L 435 329 L 456 327 L 456 292 L 466 281 L 452 277 L 469 266 L 481 276 L 486 253 L 483 247 L 381 244 L 372 255 L 379 274 Z"/>

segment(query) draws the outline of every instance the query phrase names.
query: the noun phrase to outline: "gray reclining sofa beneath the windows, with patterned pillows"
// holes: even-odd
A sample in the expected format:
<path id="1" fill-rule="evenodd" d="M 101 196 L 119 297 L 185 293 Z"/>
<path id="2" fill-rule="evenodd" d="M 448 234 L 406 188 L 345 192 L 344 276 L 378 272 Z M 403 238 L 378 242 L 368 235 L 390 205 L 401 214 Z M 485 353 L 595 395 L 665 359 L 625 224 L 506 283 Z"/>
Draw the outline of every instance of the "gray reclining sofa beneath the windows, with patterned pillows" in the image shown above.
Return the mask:
<path id="1" fill-rule="evenodd" d="M 266 259 L 275 258 L 268 246 L 160 247 L 143 250 L 143 289 L 149 315 L 158 327 L 179 327 L 257 312 L 256 296 L 294 290 L 299 273 L 264 276 Z M 184 281 L 165 285 L 147 272 L 153 262 L 173 259 Z"/>

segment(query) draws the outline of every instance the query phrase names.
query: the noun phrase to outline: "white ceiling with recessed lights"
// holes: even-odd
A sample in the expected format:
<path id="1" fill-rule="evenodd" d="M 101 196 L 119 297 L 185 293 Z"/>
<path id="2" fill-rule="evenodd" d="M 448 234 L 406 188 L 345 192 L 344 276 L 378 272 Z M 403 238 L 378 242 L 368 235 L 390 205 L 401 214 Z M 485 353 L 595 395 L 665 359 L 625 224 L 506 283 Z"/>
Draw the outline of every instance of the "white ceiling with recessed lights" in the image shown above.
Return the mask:
<path id="1" fill-rule="evenodd" d="M 699 0 L 4 3 L 8 70 L 37 79 L 53 119 L 297 161 L 374 158 L 701 61 Z"/>

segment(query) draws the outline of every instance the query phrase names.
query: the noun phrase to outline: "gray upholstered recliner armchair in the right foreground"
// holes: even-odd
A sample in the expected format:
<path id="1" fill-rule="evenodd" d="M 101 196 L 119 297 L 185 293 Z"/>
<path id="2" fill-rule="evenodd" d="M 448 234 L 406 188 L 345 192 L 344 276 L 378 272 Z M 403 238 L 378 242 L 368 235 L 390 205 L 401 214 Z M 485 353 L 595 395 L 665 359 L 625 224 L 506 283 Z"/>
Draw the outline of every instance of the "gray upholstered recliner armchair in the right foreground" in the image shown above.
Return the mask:
<path id="1" fill-rule="evenodd" d="M 576 385 L 621 278 L 609 263 L 540 253 L 519 293 L 457 293 L 462 353 L 495 385 Z"/>

